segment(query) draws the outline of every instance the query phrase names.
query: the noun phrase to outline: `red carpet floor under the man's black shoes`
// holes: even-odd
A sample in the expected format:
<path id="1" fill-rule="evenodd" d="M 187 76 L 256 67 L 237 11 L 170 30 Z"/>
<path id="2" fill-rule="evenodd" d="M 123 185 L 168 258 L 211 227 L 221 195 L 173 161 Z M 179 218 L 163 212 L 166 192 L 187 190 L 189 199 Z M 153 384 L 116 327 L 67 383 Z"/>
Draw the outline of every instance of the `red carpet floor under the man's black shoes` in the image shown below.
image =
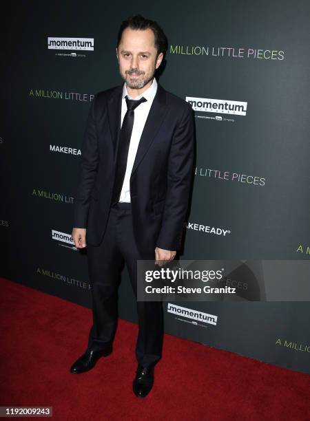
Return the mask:
<path id="1" fill-rule="evenodd" d="M 80 375 L 91 310 L 1 279 L 1 406 L 50 406 L 54 420 L 310 420 L 310 376 L 165 335 L 155 383 L 132 392 L 137 326 Z"/>

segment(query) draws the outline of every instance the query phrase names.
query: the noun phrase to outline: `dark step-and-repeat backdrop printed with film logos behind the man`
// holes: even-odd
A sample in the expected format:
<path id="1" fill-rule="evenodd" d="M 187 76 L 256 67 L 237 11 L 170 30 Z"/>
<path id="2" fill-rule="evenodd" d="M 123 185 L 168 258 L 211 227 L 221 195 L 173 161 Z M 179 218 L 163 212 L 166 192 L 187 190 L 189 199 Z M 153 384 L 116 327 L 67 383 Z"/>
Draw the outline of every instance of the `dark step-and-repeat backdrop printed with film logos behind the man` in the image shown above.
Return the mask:
<path id="1" fill-rule="evenodd" d="M 259 285 L 249 292 L 245 264 L 263 271 L 264 261 L 310 259 L 309 1 L 10 7 L 1 65 L 1 276 L 91 307 L 87 256 L 70 237 L 83 131 L 94 94 L 122 83 L 118 27 L 141 13 L 168 36 L 159 82 L 195 114 L 180 258 L 240 259 L 227 279 L 237 301 L 164 303 L 165 331 L 309 373 L 307 298 L 269 301 Z M 294 279 L 292 265 L 285 273 Z M 136 321 L 126 270 L 119 298 L 120 316 Z"/>

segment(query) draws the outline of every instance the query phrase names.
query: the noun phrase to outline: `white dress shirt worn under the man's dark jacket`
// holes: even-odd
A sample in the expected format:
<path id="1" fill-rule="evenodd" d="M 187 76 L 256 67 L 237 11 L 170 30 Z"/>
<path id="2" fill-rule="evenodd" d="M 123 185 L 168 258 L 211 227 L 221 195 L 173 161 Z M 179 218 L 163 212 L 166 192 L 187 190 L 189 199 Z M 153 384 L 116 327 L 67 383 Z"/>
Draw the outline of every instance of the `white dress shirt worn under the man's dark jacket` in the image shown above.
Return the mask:
<path id="1" fill-rule="evenodd" d="M 145 102 L 141 102 L 138 107 L 134 110 L 134 127 L 132 128 L 132 137 L 130 138 L 130 147 L 128 151 L 127 166 L 125 172 L 125 178 L 123 181 L 123 186 L 121 190 L 121 196 L 119 202 L 131 202 L 130 200 L 130 175 L 132 174 L 132 167 L 134 166 L 134 160 L 136 158 L 136 151 L 138 150 L 138 145 L 140 142 L 141 134 L 143 132 L 145 121 L 149 114 L 149 109 L 151 108 L 154 96 L 157 91 L 157 82 L 156 79 L 153 79 L 152 85 L 147 88 L 143 94 L 136 96 L 136 98 L 131 98 L 127 92 L 126 84 L 123 86 L 123 95 L 122 95 L 122 111 L 121 111 L 121 127 L 123 125 L 123 120 L 127 111 L 127 104 L 125 96 L 127 95 L 129 99 L 139 100 L 143 96 L 146 99 Z"/>

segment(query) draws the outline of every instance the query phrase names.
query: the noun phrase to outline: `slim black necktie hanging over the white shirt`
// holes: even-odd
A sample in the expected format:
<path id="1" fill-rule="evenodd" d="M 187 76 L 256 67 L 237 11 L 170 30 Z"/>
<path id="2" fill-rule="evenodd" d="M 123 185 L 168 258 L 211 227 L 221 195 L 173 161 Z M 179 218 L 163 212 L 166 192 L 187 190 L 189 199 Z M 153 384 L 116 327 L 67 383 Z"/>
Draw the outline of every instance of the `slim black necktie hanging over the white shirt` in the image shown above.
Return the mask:
<path id="1" fill-rule="evenodd" d="M 134 109 L 145 102 L 146 99 L 142 97 L 140 100 L 130 100 L 125 96 L 127 102 L 127 111 L 123 119 L 121 127 L 121 133 L 119 136 L 118 151 L 116 158 L 116 174 L 114 179 L 113 193 L 112 193 L 112 204 L 119 201 L 121 190 L 123 187 L 123 181 L 125 178 L 128 151 L 130 147 L 130 138 L 132 137 L 132 127 L 134 127 Z"/>

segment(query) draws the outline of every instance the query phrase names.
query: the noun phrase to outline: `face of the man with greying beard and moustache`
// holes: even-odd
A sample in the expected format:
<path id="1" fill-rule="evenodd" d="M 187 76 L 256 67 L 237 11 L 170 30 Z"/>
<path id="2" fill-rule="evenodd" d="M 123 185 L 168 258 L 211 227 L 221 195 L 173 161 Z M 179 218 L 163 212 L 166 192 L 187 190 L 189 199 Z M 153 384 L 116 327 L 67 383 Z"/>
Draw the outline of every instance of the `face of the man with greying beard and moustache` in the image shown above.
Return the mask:
<path id="1" fill-rule="evenodd" d="M 123 31 L 121 43 L 116 48 L 119 71 L 127 87 L 141 89 L 154 78 L 161 65 L 163 53 L 158 54 L 154 45 L 154 32 L 147 30 Z"/>

